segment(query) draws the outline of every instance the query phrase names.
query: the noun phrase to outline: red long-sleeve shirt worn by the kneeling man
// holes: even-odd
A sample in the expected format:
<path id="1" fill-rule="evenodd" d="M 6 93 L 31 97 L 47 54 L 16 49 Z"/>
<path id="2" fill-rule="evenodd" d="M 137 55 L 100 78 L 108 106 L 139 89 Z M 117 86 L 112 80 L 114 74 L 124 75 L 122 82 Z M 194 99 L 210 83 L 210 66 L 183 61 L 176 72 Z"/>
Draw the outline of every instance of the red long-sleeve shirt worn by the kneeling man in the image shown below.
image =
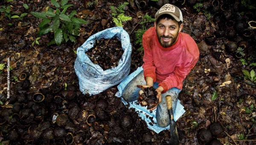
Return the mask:
<path id="1" fill-rule="evenodd" d="M 165 93 L 172 87 L 182 89 L 183 80 L 199 59 L 198 46 L 191 36 L 180 32 L 177 42 L 164 48 L 157 39 L 155 27 L 143 34 L 144 78 L 151 77 Z"/>

